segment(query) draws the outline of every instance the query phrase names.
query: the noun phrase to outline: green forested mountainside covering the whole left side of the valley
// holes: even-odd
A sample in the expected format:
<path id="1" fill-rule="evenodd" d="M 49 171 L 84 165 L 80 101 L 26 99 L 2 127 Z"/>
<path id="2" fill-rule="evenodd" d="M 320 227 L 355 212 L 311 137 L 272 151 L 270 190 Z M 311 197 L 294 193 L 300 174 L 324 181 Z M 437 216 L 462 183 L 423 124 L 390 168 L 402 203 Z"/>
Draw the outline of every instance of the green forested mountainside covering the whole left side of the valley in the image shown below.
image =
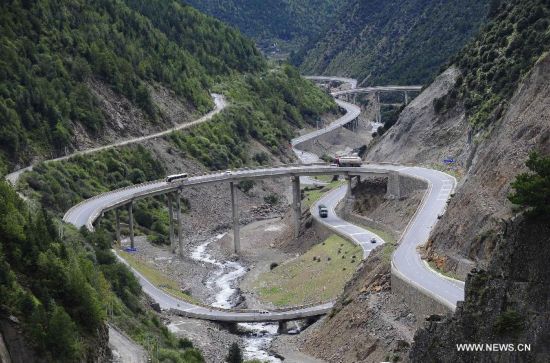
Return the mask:
<path id="1" fill-rule="evenodd" d="M 138 126 L 159 128 L 158 87 L 196 115 L 212 107 L 211 91 L 224 93 L 226 111 L 161 141 L 167 153 L 211 169 L 265 163 L 266 152 L 247 149 L 252 141 L 288 153 L 295 128 L 337 111 L 296 69 L 268 68 L 238 30 L 179 1 L 8 1 L 0 11 L 0 175 L 71 152 L 82 128 L 99 135 L 110 115 L 98 84 L 110 101 L 140 109 Z M 32 208 L 0 182 L 0 339 L 9 354 L 107 361 L 111 322 L 143 346 L 155 342 L 153 361 L 203 361 L 146 306 L 139 283 L 110 252 L 113 236 L 56 219 L 83 198 L 163 177 L 166 163 L 140 145 L 35 162 L 21 185 L 32 190 Z M 137 224 L 165 238 L 163 206 L 151 200 L 141 209 Z M 156 227 L 144 222 L 153 219 Z"/>

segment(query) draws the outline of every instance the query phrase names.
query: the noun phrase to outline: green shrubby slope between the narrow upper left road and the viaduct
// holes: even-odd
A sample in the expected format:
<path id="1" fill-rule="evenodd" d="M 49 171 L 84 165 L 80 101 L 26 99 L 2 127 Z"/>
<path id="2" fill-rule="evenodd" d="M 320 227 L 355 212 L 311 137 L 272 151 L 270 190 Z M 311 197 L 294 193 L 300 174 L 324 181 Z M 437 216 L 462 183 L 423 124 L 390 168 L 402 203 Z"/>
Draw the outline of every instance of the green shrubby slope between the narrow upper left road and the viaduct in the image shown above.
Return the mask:
<path id="1" fill-rule="evenodd" d="M 166 136 L 180 157 L 196 159 L 212 170 L 264 164 L 269 157 L 251 155 L 251 140 L 275 156 L 285 149 L 288 153 L 296 128 L 315 125 L 321 114 L 337 112 L 332 98 L 291 66 L 235 75 L 215 90 L 227 95 L 227 110 L 207 123 Z M 165 175 L 162 160 L 143 146 L 132 145 L 40 163 L 22 175 L 19 188 L 61 215 L 83 199 Z M 141 200 L 135 212 L 140 231 L 158 243 L 166 242 L 168 225 L 166 203 L 161 199 Z"/>

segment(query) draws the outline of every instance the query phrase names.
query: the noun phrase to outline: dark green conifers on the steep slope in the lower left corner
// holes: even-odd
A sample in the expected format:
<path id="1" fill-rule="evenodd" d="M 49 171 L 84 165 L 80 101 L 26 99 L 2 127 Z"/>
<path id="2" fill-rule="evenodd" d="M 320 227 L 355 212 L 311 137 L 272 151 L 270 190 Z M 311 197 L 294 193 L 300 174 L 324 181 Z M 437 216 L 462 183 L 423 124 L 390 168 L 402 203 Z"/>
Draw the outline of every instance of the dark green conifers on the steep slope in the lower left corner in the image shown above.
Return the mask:
<path id="1" fill-rule="evenodd" d="M 33 213 L 0 181 L 0 311 L 16 315 L 48 360 L 93 352 L 105 318 L 109 283 L 95 256 L 58 238 L 41 210 Z"/>

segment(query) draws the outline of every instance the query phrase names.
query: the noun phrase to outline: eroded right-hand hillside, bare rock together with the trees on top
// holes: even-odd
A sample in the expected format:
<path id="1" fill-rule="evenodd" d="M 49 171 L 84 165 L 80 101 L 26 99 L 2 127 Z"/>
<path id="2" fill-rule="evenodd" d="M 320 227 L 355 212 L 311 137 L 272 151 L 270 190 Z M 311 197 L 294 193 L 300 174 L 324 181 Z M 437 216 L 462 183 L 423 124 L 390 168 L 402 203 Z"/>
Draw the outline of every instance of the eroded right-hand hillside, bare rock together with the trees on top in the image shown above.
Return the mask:
<path id="1" fill-rule="evenodd" d="M 539 15 L 531 16 L 532 7 Z M 461 276 L 490 257 L 500 221 L 512 213 L 506 198 L 510 182 L 525 169 L 529 152 L 549 147 L 550 57 L 541 54 L 550 40 L 548 21 L 540 15 L 549 13 L 548 5 L 510 1 L 500 9 L 461 52 L 458 66 L 416 98 L 368 153 L 372 160 L 436 167 L 455 160 L 459 186 L 432 234 L 428 255 Z M 517 39 L 525 33 L 542 44 L 518 49 Z M 497 51 L 509 54 L 507 60 L 488 57 Z M 502 72 L 503 62 L 513 64 L 516 73 Z"/>

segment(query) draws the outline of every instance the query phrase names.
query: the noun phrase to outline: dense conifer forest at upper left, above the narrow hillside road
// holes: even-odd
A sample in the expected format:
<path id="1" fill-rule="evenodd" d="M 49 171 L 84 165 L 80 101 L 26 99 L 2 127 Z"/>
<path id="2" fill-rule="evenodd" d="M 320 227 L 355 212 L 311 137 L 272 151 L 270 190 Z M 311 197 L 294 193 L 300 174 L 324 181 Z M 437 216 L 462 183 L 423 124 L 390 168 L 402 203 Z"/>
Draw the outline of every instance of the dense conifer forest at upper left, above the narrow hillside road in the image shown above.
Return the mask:
<path id="1" fill-rule="evenodd" d="M 237 30 L 176 0 L 3 1 L 0 53 L 0 173 L 73 148 L 76 123 L 100 132 L 92 78 L 156 122 L 151 85 L 204 112 L 216 77 L 265 67 Z"/>

